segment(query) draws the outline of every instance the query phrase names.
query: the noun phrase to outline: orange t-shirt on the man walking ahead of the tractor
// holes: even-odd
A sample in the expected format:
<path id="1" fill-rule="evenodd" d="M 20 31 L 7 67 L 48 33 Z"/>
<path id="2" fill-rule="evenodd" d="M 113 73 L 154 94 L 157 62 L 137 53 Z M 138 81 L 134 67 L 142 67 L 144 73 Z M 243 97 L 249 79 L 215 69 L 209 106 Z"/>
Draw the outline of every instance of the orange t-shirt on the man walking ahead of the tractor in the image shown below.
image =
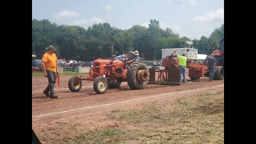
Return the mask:
<path id="1" fill-rule="evenodd" d="M 42 61 L 45 62 L 45 69 L 51 70 L 53 72 L 56 72 L 57 70 L 57 56 L 55 53 L 50 54 L 49 52 L 46 52 L 43 55 Z"/>

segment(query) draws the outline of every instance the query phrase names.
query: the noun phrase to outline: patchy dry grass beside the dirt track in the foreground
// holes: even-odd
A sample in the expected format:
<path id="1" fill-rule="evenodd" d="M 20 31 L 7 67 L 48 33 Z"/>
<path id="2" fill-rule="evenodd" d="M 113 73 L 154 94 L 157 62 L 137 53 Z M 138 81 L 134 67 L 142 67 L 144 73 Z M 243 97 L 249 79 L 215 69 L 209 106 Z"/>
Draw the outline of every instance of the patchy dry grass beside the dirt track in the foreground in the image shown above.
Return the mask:
<path id="1" fill-rule="evenodd" d="M 113 110 L 109 125 L 84 131 L 76 138 L 63 138 L 58 143 L 224 143 L 223 91 L 198 93 L 170 103 L 142 104 L 141 109 Z"/>

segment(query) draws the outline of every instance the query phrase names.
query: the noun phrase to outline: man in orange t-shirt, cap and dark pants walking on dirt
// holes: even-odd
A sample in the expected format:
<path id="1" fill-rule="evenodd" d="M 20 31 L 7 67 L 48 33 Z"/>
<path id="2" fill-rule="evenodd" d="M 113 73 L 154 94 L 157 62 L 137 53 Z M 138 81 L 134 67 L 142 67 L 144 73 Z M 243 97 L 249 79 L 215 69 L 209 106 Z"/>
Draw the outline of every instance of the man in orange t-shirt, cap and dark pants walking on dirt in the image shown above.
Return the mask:
<path id="1" fill-rule="evenodd" d="M 58 98 L 54 94 L 54 84 L 56 83 L 57 73 L 59 73 L 57 56 L 54 53 L 56 51 L 55 47 L 50 45 L 47 47 L 47 52 L 43 55 L 41 68 L 44 72 L 44 77 L 48 78 L 48 85 L 43 93 L 46 97 Z M 50 94 L 49 94 L 50 92 Z"/>

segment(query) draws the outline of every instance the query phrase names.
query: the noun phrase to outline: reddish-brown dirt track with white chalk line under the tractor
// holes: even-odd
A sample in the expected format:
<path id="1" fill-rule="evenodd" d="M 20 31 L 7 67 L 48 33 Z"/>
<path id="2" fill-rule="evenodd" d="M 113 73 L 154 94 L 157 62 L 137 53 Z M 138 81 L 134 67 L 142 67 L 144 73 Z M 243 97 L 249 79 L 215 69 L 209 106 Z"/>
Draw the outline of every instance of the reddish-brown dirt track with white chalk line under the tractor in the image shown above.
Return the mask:
<path id="1" fill-rule="evenodd" d="M 43 94 L 47 78 L 32 77 L 32 127 L 42 143 L 54 143 L 63 137 L 75 137 L 85 130 L 118 125 L 102 120 L 108 111 L 138 108 L 141 103 L 148 102 L 174 103 L 180 97 L 224 89 L 224 80 L 210 82 L 209 77 L 202 77 L 200 82 L 180 86 L 148 84 L 143 90 L 131 90 L 123 82 L 118 89 L 96 94 L 90 81 L 83 81 L 79 92 L 71 92 L 68 89 L 70 77 L 60 77 L 61 88 L 55 85 L 58 99 L 50 99 Z"/>

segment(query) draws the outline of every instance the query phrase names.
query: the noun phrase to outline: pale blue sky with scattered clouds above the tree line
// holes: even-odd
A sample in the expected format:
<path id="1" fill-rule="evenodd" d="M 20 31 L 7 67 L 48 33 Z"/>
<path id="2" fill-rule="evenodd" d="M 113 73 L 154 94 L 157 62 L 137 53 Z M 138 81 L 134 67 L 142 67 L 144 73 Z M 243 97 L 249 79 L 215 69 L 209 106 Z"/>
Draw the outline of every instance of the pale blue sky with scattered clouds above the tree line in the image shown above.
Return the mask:
<path id="1" fill-rule="evenodd" d="M 224 24 L 224 0 L 32 0 L 32 19 L 85 29 L 108 22 L 123 30 L 155 19 L 163 30 L 199 40 Z"/>

